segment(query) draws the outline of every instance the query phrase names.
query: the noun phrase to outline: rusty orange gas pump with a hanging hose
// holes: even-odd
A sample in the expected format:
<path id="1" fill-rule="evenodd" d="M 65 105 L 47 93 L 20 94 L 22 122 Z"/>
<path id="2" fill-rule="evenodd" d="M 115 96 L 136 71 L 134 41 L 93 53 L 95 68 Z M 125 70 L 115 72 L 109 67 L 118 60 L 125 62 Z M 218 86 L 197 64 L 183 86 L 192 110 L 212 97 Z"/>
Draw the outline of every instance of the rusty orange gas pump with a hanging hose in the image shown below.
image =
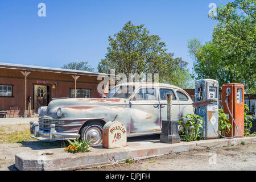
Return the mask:
<path id="1" fill-rule="evenodd" d="M 243 84 L 223 84 L 221 100 L 224 113 L 233 126 L 229 134 L 224 138 L 244 137 L 244 85 Z"/>

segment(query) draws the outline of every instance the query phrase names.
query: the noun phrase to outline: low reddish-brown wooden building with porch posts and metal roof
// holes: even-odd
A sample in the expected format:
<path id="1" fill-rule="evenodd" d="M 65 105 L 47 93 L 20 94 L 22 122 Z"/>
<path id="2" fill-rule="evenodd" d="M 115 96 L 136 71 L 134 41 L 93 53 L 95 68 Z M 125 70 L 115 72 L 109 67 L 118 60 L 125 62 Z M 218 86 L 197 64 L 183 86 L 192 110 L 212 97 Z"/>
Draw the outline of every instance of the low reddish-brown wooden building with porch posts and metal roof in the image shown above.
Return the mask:
<path id="1" fill-rule="evenodd" d="M 99 97 L 98 75 L 72 69 L 0 63 L 0 111 L 7 117 L 29 117 L 53 98 Z M 105 87 L 108 90 L 107 86 Z M 75 92 L 77 90 L 77 92 Z M 1 116 L 0 116 L 1 117 Z"/>

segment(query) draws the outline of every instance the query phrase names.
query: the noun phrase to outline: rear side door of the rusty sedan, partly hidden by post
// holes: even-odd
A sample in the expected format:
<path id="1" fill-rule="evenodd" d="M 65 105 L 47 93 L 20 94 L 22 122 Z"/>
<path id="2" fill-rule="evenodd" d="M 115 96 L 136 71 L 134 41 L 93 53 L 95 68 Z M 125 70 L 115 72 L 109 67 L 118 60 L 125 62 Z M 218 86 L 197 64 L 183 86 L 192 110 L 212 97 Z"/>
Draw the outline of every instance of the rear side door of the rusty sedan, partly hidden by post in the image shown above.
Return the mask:
<path id="1" fill-rule="evenodd" d="M 171 88 L 159 88 L 159 99 L 160 99 L 160 115 L 162 120 L 167 120 L 167 94 L 172 94 L 172 121 L 179 120 L 179 101 L 175 95 L 174 89 Z"/>

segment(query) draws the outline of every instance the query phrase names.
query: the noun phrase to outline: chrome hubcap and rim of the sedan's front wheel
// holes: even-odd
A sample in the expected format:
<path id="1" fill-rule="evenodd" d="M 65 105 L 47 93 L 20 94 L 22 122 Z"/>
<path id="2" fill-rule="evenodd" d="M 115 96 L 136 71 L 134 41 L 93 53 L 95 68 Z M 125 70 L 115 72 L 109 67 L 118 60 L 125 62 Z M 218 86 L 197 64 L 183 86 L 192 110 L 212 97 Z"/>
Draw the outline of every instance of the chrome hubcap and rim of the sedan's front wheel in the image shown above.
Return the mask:
<path id="1" fill-rule="evenodd" d="M 85 140 L 90 141 L 91 144 L 100 144 L 102 141 L 102 130 L 98 126 L 91 126 L 85 133 Z"/>

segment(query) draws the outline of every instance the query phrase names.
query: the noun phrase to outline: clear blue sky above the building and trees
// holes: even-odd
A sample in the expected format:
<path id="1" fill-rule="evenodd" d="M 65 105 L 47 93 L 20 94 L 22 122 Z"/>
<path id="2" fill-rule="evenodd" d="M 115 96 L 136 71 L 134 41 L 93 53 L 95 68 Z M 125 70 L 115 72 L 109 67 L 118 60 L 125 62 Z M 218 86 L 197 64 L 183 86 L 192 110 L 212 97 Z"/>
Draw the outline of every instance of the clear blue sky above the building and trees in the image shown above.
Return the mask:
<path id="1" fill-rule="evenodd" d="M 46 4 L 46 17 L 38 16 L 40 2 Z M 131 20 L 159 35 L 168 51 L 182 57 L 192 68 L 187 40 L 208 42 L 217 24 L 208 18 L 208 6 L 228 2 L 1 0 L 0 62 L 60 68 L 71 61 L 86 60 L 97 68 L 105 57 L 108 36 Z"/>

